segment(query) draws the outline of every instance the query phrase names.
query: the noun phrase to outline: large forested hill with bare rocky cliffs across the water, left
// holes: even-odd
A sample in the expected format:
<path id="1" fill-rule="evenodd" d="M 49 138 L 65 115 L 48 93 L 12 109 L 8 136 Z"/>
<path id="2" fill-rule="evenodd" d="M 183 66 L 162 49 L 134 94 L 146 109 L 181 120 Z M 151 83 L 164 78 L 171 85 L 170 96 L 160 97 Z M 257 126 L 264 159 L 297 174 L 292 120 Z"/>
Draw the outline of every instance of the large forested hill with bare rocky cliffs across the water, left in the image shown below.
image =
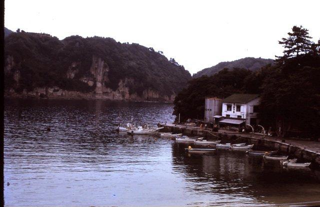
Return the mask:
<path id="1" fill-rule="evenodd" d="M 13 32 L 5 38 L 5 93 L 171 101 L 190 73 L 161 51 L 112 38 Z"/>

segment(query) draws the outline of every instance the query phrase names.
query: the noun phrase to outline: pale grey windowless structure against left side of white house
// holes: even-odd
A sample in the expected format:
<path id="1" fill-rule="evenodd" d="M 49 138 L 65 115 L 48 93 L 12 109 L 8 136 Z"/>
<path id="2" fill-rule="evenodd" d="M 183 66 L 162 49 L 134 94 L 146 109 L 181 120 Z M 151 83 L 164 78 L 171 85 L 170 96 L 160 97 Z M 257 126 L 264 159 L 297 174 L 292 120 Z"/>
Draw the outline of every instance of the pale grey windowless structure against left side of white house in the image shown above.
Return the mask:
<path id="1" fill-rule="evenodd" d="M 213 116 L 221 115 L 222 99 L 219 98 L 205 98 L 204 104 L 204 121 L 212 122 Z"/>

